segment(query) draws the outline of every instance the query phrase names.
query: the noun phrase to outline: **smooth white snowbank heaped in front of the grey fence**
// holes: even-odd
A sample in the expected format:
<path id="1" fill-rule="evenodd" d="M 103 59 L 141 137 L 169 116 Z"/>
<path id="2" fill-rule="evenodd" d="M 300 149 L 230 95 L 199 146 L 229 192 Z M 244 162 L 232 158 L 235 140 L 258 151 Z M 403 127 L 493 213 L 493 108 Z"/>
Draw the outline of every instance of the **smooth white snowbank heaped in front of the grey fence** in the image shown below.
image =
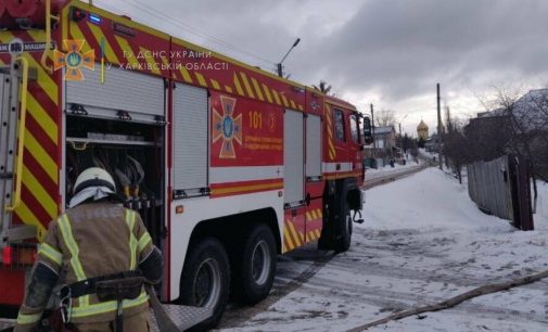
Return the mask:
<path id="1" fill-rule="evenodd" d="M 504 227 L 507 220 L 486 216 L 468 196 L 468 189 L 430 167 L 413 177 L 366 193 L 365 227 L 375 229 Z"/>

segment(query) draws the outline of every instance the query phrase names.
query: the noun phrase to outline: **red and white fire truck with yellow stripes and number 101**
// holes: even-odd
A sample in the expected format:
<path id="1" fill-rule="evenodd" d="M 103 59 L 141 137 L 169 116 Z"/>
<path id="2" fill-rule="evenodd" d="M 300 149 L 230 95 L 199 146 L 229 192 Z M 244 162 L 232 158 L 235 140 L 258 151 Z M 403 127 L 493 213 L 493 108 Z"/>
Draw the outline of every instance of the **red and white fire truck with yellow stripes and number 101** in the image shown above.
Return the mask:
<path id="1" fill-rule="evenodd" d="M 0 27 L 0 303 L 92 166 L 163 251 L 162 299 L 211 323 L 267 296 L 277 254 L 348 250 L 370 139 L 352 104 L 87 2 L 1 1 Z"/>

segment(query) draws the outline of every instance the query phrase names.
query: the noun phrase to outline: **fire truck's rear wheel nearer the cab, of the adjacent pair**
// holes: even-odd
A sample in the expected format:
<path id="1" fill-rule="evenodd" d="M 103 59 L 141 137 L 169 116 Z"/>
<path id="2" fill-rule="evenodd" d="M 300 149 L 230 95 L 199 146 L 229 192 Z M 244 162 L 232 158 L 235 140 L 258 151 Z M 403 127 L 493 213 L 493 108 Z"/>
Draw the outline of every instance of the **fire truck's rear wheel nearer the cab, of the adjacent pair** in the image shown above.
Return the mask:
<path id="1" fill-rule="evenodd" d="M 268 296 L 276 272 L 276 242 L 270 228 L 255 226 L 234 259 L 234 298 L 255 304 Z"/>

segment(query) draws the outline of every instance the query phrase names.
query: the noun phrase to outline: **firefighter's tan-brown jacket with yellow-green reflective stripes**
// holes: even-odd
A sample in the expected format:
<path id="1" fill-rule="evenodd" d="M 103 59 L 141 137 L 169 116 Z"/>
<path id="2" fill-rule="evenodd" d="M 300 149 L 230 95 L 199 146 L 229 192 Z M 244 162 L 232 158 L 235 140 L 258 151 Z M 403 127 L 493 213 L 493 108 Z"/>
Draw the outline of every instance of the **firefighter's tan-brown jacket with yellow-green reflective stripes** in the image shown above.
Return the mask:
<path id="1" fill-rule="evenodd" d="M 88 203 L 68 209 L 50 222 L 36 264 L 60 276 L 61 284 L 136 270 L 153 252 L 152 239 L 140 216 L 112 203 Z M 36 265 L 35 265 L 36 267 Z M 136 299 L 124 301 L 124 316 L 148 309 L 144 290 Z M 25 301 L 26 304 L 26 301 Z M 71 322 L 104 322 L 116 318 L 115 301 L 100 302 L 95 294 L 73 298 Z M 42 308 L 24 305 L 18 325 L 35 325 Z"/>

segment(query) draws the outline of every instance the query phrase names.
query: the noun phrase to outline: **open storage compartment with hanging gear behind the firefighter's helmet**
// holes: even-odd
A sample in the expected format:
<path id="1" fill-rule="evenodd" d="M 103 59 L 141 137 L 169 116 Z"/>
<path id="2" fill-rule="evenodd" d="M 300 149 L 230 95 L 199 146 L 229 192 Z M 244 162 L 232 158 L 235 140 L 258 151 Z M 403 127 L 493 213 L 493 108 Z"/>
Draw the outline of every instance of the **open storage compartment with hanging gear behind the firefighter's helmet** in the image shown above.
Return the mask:
<path id="1" fill-rule="evenodd" d="M 123 204 L 141 215 L 153 242 L 162 247 L 165 202 L 164 125 L 66 116 L 65 204 L 77 176 L 101 167 L 116 182 Z"/>

